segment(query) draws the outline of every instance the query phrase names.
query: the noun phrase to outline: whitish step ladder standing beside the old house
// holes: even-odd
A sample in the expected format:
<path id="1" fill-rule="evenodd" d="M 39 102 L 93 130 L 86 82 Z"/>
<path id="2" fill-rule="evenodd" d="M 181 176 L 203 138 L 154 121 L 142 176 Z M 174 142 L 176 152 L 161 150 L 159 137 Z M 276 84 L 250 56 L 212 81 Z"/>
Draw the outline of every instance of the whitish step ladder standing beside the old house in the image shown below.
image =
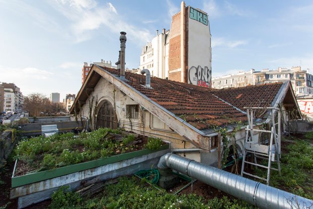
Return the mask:
<path id="1" fill-rule="evenodd" d="M 279 175 L 281 175 L 280 172 L 280 157 L 281 157 L 281 147 L 280 147 L 280 110 L 278 108 L 274 107 L 244 107 L 247 110 L 247 117 L 248 117 L 248 125 L 246 130 L 246 136 L 244 141 L 244 148 L 243 148 L 243 158 L 242 158 L 242 166 L 241 166 L 241 176 L 243 174 L 261 179 L 266 181 L 267 185 L 270 184 L 270 174 L 271 169 L 276 170 L 279 172 Z M 260 129 L 253 129 L 253 111 L 256 110 L 264 110 L 264 111 L 270 111 L 270 117 L 266 121 L 266 123 L 271 124 L 271 131 L 269 130 L 260 130 Z M 278 120 L 275 122 L 275 114 L 278 114 Z M 276 126 L 278 127 L 276 129 Z M 258 140 L 258 136 L 262 133 L 270 133 L 270 139 L 269 143 L 262 143 L 260 140 Z M 246 157 L 251 154 L 253 156 L 253 162 L 250 162 L 246 160 Z M 276 159 L 275 159 L 276 158 Z M 267 159 L 268 165 L 263 165 L 257 163 L 257 159 Z M 278 169 L 271 168 L 271 162 L 277 161 Z M 260 168 L 267 169 L 267 178 L 262 178 L 256 175 L 252 175 L 248 172 L 245 172 L 245 164 L 251 164 Z"/>

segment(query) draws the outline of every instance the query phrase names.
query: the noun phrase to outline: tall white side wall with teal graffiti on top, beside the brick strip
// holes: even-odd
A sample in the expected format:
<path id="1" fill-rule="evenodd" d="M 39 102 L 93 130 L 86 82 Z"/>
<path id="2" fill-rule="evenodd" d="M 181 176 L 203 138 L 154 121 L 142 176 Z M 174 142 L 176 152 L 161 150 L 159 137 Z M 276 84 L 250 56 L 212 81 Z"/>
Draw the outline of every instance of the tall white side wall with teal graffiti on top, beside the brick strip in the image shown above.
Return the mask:
<path id="1" fill-rule="evenodd" d="M 188 7 L 188 83 L 211 87 L 212 48 L 208 16 Z"/>

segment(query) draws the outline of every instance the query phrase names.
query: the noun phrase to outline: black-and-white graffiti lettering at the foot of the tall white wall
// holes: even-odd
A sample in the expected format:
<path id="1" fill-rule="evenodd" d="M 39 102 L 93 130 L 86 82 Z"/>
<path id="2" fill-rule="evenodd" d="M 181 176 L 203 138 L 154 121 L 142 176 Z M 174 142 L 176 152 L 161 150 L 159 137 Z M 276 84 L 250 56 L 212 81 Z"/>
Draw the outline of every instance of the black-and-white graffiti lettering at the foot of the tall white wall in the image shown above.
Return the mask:
<path id="1" fill-rule="evenodd" d="M 207 66 L 204 68 L 200 65 L 198 67 L 192 66 L 189 69 L 189 83 L 208 88 L 211 85 L 211 75 L 211 69 Z"/>

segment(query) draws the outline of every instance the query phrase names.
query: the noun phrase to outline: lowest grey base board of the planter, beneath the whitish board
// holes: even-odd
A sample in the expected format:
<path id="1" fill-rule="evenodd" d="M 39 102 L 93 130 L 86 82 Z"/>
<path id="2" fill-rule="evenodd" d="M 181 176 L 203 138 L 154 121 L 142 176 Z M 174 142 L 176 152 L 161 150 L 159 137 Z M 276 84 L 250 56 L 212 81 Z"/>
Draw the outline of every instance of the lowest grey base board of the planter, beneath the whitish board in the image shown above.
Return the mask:
<path id="1" fill-rule="evenodd" d="M 106 181 L 106 180 L 114 179 L 114 178 L 117 178 L 120 176 L 134 174 L 141 169 L 144 169 L 144 170 L 148 170 L 151 168 L 154 169 L 154 168 L 156 168 L 156 165 L 158 164 L 159 159 L 160 159 L 160 157 L 154 157 L 152 159 L 145 160 L 145 161 L 137 163 L 137 164 L 129 165 L 129 166 L 126 166 L 124 168 L 120 168 L 118 170 L 113 170 L 113 171 L 110 171 L 107 173 L 100 174 L 96 178 L 98 178 L 100 181 Z M 91 180 L 92 178 L 95 178 L 95 177 L 91 177 L 91 178 L 88 178 L 85 180 Z M 79 181 L 75 181 L 75 182 L 70 182 L 68 184 L 64 184 L 62 186 L 68 186 L 69 190 L 75 190 L 76 188 L 80 187 L 81 182 L 82 182 L 82 180 L 79 180 Z M 25 196 L 21 196 L 18 198 L 18 208 L 23 208 L 23 207 L 26 207 L 28 205 L 49 199 L 51 197 L 51 195 L 55 191 L 57 191 L 59 188 L 60 188 L 60 186 L 46 189 L 46 190 L 36 192 L 36 193 L 31 193 L 31 194 L 28 194 Z"/>

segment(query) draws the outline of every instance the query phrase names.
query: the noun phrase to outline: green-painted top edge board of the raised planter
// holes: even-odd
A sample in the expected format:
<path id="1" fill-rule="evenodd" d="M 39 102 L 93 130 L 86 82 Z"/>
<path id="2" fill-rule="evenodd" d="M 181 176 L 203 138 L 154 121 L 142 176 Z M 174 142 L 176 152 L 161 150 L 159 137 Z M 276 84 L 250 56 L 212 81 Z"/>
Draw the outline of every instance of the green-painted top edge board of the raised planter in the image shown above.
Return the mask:
<path id="1" fill-rule="evenodd" d="M 12 188 L 26 185 L 26 184 L 31 184 L 34 182 L 47 180 L 47 179 L 52 179 L 55 177 L 64 176 L 67 174 L 72 174 L 72 173 L 79 172 L 79 171 L 84 171 L 87 169 L 96 168 L 96 167 L 101 166 L 101 165 L 106 165 L 106 164 L 122 161 L 125 159 L 138 157 L 141 155 L 146 155 L 149 153 L 153 153 L 153 152 L 160 151 L 160 150 L 165 150 L 168 148 L 169 148 L 169 145 L 165 144 L 165 145 L 162 145 L 162 147 L 158 150 L 144 149 L 144 150 L 129 152 L 129 153 L 125 153 L 125 154 L 115 155 L 115 156 L 111 156 L 111 157 L 107 157 L 107 158 L 101 158 L 101 159 L 92 160 L 92 161 L 88 161 L 88 162 L 82 162 L 82 163 L 78 163 L 78 164 L 74 164 L 74 165 L 69 165 L 69 166 L 65 166 L 62 168 L 54 169 L 54 170 L 42 171 L 42 172 L 38 172 L 38 173 L 26 174 L 23 176 L 13 177 L 11 180 L 12 181 Z"/>

